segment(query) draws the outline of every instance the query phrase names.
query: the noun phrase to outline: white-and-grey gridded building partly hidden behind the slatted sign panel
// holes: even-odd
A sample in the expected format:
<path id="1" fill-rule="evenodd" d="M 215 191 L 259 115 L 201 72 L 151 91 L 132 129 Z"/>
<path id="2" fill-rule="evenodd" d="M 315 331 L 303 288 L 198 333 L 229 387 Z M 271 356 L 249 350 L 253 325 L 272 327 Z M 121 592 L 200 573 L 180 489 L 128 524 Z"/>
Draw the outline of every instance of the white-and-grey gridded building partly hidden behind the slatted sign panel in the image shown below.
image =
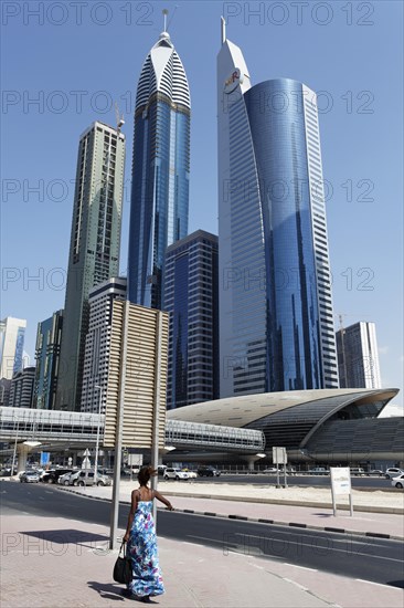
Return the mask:
<path id="1" fill-rule="evenodd" d="M 89 322 L 84 355 L 82 411 L 105 413 L 113 302 L 116 298 L 126 300 L 125 277 L 108 279 L 88 295 Z"/>

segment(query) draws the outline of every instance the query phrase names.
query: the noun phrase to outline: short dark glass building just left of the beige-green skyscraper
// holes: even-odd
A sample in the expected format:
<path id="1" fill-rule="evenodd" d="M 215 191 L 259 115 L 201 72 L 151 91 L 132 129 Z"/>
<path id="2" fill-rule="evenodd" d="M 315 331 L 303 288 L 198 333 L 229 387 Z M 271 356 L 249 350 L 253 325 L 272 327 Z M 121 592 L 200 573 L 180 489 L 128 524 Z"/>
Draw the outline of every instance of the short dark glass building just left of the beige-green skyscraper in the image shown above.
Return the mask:
<path id="1" fill-rule="evenodd" d="M 33 397 L 33 407 L 38 409 L 55 409 L 62 328 L 63 311 L 38 324 Z"/>

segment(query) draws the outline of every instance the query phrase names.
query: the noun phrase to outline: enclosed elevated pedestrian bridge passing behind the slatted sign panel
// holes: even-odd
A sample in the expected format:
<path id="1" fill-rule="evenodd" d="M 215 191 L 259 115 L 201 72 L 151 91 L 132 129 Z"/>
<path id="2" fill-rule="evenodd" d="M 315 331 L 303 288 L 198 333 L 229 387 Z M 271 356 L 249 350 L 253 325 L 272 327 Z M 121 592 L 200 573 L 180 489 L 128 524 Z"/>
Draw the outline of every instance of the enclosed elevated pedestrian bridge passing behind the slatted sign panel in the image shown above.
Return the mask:
<path id="1" fill-rule="evenodd" d="M 0 442 L 38 441 L 41 451 L 83 449 L 96 444 L 99 429 L 102 445 L 104 421 L 103 413 L 0 407 Z M 254 429 L 167 419 L 166 444 L 254 454 L 263 452 L 265 439 L 262 431 Z"/>

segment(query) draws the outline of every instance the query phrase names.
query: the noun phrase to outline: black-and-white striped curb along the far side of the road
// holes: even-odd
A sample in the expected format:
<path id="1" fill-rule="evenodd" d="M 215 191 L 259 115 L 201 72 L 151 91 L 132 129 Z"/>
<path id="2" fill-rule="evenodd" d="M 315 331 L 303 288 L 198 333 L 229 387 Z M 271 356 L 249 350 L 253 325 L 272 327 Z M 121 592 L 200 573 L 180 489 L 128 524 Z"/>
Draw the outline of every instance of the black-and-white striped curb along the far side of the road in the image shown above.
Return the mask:
<path id="1" fill-rule="evenodd" d="M 62 490 L 64 492 L 71 492 L 72 494 L 78 494 L 81 496 L 84 496 L 86 499 L 91 499 L 93 501 L 110 502 L 109 499 L 104 499 L 102 496 L 88 496 L 86 494 L 83 494 L 83 492 L 79 492 L 77 490 L 72 490 L 70 488 L 61 486 L 61 488 L 57 488 L 57 490 Z M 171 495 L 178 495 L 179 496 L 179 495 L 182 495 L 182 494 L 171 494 Z M 189 494 L 188 494 L 188 496 L 189 496 Z M 203 496 L 203 497 L 206 497 L 206 496 Z M 248 502 L 252 502 L 252 501 L 248 501 Z M 262 502 L 262 501 L 259 501 L 259 502 Z M 120 501 L 119 500 L 119 503 L 130 504 L 130 501 Z M 319 503 L 315 503 L 316 506 Z M 304 503 L 302 505 L 308 505 L 308 503 Z M 329 505 L 326 505 L 326 506 L 329 506 Z M 158 507 L 158 511 L 164 511 L 164 510 Z M 302 530 L 306 528 L 306 530 L 317 530 L 317 531 L 320 531 L 320 532 L 331 532 L 333 534 L 349 534 L 350 536 L 360 536 L 362 538 L 364 537 L 364 538 L 383 538 L 383 539 L 386 539 L 386 541 L 404 541 L 404 535 L 403 536 L 395 536 L 395 535 L 392 535 L 392 534 L 383 534 L 381 532 L 357 532 L 357 531 L 353 531 L 353 530 L 345 530 L 345 528 L 342 528 L 342 527 L 316 526 L 316 525 L 311 525 L 311 524 L 301 524 L 301 523 L 298 523 L 298 522 L 279 522 L 277 520 L 265 520 L 265 518 L 262 518 L 262 517 L 258 517 L 258 518 L 247 517 L 245 515 L 232 515 L 232 514 L 224 515 L 222 513 L 213 513 L 213 512 L 210 512 L 210 511 L 194 511 L 193 509 L 176 509 L 174 511 L 176 511 L 176 513 L 187 513 L 188 515 L 200 515 L 200 516 L 204 516 L 204 517 L 219 517 L 221 520 L 238 520 L 238 521 L 243 521 L 243 522 L 253 522 L 253 523 L 267 524 L 267 525 L 269 524 L 269 525 L 276 525 L 276 526 L 281 526 L 281 527 L 298 527 L 298 528 L 302 528 Z"/>

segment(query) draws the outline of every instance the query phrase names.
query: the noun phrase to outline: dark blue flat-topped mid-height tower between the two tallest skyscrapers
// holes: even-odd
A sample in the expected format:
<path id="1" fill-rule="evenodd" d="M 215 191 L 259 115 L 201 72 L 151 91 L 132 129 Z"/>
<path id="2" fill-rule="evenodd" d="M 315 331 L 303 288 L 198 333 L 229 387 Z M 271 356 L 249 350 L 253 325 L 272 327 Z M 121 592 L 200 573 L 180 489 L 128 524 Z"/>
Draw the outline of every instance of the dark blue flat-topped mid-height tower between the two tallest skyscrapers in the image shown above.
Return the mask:
<path id="1" fill-rule="evenodd" d="M 217 237 L 198 230 L 167 249 L 168 409 L 219 398 L 217 289 Z"/>

